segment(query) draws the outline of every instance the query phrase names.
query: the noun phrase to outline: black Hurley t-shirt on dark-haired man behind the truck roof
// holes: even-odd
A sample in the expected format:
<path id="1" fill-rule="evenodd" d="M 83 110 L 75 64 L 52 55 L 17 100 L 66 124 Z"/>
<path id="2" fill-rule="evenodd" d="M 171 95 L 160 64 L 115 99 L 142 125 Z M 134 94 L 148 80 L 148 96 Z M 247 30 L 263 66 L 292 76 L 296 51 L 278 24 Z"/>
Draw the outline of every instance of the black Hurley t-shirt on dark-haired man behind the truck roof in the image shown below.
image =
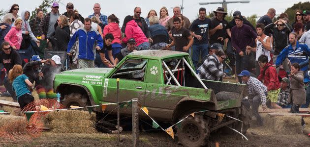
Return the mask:
<path id="1" fill-rule="evenodd" d="M 172 28 L 172 37 L 174 38 L 176 51 L 183 51 L 183 47 L 188 45 L 188 36 L 190 36 L 190 32 L 185 27 L 181 27 L 180 30 L 177 30 L 175 27 Z"/>

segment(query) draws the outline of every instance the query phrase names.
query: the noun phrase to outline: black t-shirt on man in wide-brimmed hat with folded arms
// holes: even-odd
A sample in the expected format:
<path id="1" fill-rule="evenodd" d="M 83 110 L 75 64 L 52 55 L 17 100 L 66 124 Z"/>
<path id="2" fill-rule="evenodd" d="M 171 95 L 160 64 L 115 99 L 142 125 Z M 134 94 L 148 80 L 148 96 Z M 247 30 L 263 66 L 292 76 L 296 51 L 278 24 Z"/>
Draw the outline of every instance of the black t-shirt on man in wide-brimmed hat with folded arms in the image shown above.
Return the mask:
<path id="1" fill-rule="evenodd" d="M 218 37 L 223 37 L 223 39 L 227 38 L 227 32 L 226 29 L 228 28 L 228 22 L 226 20 L 218 20 L 217 18 L 214 18 L 211 20 L 211 29 L 217 27 L 222 23 L 223 29 L 218 29 L 213 35 L 210 36 L 210 45 L 219 43 L 221 45 L 224 45 L 224 40 L 221 41 L 220 39 L 217 39 Z"/>

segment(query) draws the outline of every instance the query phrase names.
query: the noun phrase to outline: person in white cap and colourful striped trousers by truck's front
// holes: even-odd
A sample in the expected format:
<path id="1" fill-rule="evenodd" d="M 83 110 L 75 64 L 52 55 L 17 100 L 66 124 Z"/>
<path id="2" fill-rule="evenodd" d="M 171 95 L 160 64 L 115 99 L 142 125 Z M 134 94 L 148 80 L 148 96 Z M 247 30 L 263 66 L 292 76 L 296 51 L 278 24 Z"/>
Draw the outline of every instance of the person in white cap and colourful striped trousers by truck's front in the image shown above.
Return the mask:
<path id="1" fill-rule="evenodd" d="M 45 61 L 41 69 L 42 73 L 39 73 L 42 80 L 40 80 L 39 84 L 35 84 L 35 89 L 39 98 L 57 98 L 53 89 L 53 80 L 55 75 L 62 71 L 61 65 L 61 58 L 58 55 L 54 55 L 50 60 Z"/>

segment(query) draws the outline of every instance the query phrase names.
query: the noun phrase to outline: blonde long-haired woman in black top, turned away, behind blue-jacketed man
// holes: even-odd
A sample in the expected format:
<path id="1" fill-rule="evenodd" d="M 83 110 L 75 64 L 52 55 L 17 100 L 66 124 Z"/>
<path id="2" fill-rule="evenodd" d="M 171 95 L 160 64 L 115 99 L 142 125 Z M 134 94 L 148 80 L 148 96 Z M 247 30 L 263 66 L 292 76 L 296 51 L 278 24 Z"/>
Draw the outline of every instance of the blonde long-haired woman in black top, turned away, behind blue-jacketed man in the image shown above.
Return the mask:
<path id="1" fill-rule="evenodd" d="M 53 51 L 67 51 L 68 43 L 70 41 L 70 29 L 67 21 L 67 17 L 61 15 L 57 20 L 58 26 L 55 32 L 47 42 L 51 42 L 53 45 Z"/>

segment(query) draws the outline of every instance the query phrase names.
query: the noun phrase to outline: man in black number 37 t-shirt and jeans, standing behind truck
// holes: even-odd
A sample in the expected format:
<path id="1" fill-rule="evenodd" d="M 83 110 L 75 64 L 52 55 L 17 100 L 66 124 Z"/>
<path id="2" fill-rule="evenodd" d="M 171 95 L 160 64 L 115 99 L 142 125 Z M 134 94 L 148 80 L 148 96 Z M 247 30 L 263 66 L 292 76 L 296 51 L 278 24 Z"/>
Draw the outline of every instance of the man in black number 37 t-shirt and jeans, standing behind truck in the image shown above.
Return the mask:
<path id="1" fill-rule="evenodd" d="M 194 37 L 192 60 L 195 69 L 200 66 L 199 56 L 203 58 L 208 54 L 210 26 L 211 20 L 206 18 L 206 8 L 200 8 L 199 18 L 193 21 L 189 29 L 190 34 Z"/>

